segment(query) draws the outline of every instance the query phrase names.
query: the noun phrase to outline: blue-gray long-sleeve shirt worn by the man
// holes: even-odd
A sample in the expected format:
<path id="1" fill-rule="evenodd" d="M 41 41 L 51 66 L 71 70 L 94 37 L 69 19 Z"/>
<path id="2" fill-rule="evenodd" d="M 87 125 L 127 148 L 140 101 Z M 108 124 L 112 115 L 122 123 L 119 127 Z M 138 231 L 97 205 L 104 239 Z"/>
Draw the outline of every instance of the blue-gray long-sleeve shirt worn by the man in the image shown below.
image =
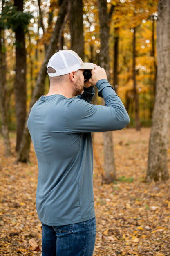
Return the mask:
<path id="1" fill-rule="evenodd" d="M 95 217 L 91 132 L 120 130 L 129 116 L 106 79 L 96 83 L 105 106 L 90 104 L 94 87 L 76 98 L 41 96 L 31 109 L 28 128 L 38 161 L 36 208 L 49 226 Z"/>

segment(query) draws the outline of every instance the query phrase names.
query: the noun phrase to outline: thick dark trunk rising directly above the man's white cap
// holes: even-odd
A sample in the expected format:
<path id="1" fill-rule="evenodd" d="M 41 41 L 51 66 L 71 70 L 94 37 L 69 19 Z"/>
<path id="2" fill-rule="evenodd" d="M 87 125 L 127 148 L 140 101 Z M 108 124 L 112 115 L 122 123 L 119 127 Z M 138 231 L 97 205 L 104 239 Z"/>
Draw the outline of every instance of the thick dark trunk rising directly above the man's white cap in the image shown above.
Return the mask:
<path id="1" fill-rule="evenodd" d="M 82 60 L 84 60 L 83 3 L 82 0 L 69 1 L 71 2 L 71 49 L 74 50 Z"/>

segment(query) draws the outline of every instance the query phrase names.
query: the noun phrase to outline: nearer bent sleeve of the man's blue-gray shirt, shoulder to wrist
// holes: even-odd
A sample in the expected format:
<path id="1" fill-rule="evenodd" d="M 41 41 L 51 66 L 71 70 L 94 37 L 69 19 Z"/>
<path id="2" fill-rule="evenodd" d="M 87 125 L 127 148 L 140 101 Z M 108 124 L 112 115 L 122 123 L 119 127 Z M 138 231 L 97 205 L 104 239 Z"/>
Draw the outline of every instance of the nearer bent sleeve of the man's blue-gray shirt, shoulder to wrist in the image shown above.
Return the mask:
<path id="1" fill-rule="evenodd" d="M 72 133 L 121 130 L 129 123 L 128 113 L 110 83 L 101 79 L 96 87 L 105 106 L 93 105 L 80 98 L 69 101 L 67 121 Z"/>

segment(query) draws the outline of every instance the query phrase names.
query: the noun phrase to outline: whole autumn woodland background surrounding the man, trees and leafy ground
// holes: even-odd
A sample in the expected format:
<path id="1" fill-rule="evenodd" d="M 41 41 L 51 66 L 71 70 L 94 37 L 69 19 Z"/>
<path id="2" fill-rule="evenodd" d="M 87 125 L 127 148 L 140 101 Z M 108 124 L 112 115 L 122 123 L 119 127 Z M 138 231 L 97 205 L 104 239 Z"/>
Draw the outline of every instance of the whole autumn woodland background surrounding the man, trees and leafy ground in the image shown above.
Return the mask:
<path id="1" fill-rule="evenodd" d="M 170 1 L 0 3 L 0 255 L 41 254 L 27 117 L 49 89 L 49 57 L 72 49 L 105 68 L 130 116 L 93 134 L 94 255 L 169 256 Z"/>

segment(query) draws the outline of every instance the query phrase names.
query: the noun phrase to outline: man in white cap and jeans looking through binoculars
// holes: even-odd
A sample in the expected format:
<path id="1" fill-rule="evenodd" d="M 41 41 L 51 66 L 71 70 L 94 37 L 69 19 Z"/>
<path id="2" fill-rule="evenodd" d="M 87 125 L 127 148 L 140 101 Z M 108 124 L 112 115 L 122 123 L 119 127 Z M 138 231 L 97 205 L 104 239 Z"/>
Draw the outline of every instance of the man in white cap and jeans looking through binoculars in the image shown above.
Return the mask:
<path id="1" fill-rule="evenodd" d="M 92 77 L 84 82 L 86 69 Z M 49 92 L 34 104 L 28 119 L 39 169 L 36 208 L 42 256 L 92 256 L 96 220 L 91 132 L 120 130 L 129 117 L 105 70 L 83 63 L 74 51 L 55 53 L 47 72 Z M 90 104 L 94 86 L 105 106 Z"/>

